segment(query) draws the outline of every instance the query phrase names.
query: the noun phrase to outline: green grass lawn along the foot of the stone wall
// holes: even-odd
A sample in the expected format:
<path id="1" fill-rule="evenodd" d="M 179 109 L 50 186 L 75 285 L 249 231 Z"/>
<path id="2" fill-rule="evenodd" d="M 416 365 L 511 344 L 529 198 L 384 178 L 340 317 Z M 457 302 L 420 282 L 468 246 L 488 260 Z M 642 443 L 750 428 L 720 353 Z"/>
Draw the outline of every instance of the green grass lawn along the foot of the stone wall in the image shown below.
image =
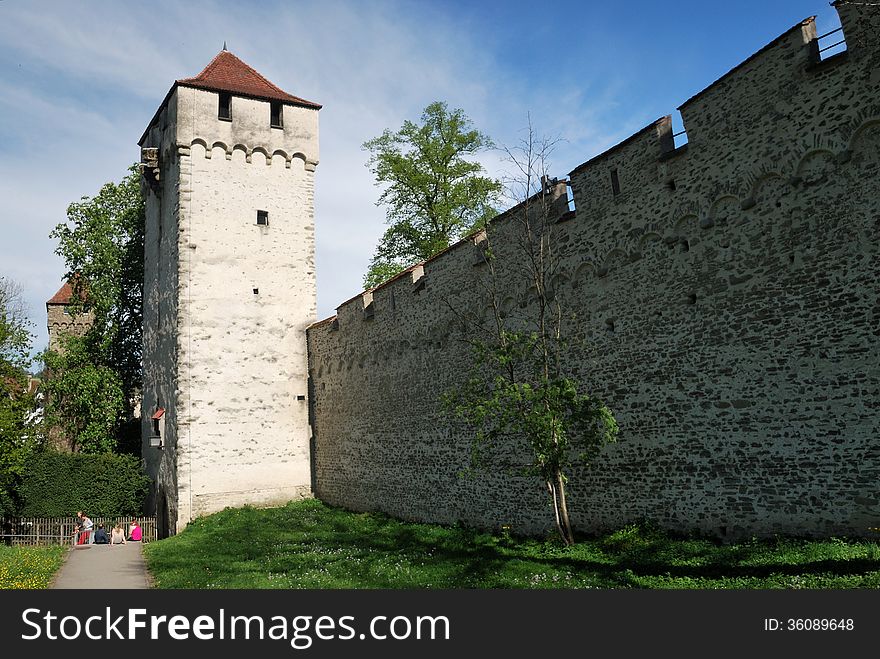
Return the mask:
<path id="1" fill-rule="evenodd" d="M 158 588 L 877 588 L 880 543 L 721 545 L 627 527 L 565 548 L 319 501 L 236 508 L 144 546 Z"/>

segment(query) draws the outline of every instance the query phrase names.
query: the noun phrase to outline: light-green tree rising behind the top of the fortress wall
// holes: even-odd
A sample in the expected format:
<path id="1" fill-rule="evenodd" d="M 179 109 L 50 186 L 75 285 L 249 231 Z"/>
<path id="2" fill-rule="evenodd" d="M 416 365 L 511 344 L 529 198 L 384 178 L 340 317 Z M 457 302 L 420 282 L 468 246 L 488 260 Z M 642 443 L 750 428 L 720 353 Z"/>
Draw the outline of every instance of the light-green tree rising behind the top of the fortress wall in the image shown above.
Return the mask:
<path id="1" fill-rule="evenodd" d="M 425 108 L 420 124 L 404 121 L 364 143 L 376 184 L 387 186 L 377 205 L 386 207 L 389 225 L 364 286 L 431 258 L 496 214 L 501 183 L 467 160 L 492 146 L 461 110 L 440 101 Z"/>

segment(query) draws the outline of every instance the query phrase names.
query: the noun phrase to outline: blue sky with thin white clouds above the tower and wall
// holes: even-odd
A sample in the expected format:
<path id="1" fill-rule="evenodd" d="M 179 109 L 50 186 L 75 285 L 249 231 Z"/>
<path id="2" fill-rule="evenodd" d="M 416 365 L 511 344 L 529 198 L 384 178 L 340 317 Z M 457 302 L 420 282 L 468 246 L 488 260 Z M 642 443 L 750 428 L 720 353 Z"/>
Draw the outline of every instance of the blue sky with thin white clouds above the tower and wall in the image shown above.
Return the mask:
<path id="1" fill-rule="evenodd" d="M 229 50 L 324 105 L 317 170 L 318 316 L 360 290 L 384 230 L 364 141 L 434 100 L 499 145 L 531 116 L 570 170 L 665 115 L 827 0 L 80 2 L 0 0 L 0 275 L 22 285 L 35 348 L 64 264 L 67 205 L 120 179 L 172 82 Z M 677 120 L 677 117 L 676 117 Z M 497 153 L 482 160 L 490 173 Z"/>

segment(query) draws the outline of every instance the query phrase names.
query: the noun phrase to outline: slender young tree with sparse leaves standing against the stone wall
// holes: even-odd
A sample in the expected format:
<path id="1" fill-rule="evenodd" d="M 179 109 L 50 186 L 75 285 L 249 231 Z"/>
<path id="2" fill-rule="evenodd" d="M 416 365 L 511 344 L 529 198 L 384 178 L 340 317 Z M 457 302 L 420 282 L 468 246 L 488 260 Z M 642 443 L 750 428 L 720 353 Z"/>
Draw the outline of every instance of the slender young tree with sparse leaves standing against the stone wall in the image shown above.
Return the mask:
<path id="1" fill-rule="evenodd" d="M 515 247 L 508 253 L 511 262 L 499 262 L 492 242 L 495 227 L 487 225 L 485 290 L 492 313 L 488 322 L 468 323 L 473 329 L 468 339 L 472 371 L 446 393 L 444 402 L 475 430 L 473 467 L 498 466 L 501 454 L 529 456 L 522 471 L 546 485 L 556 528 L 571 545 L 568 474 L 573 465 L 588 465 L 603 445 L 615 441 L 618 427 L 611 410 L 586 393 L 564 367 L 564 310 L 553 282 L 558 274 L 554 220 L 566 197 L 565 184 L 554 186 L 546 175 L 552 146 L 536 142 L 530 127 L 517 150 L 506 150 L 514 166 L 509 185 L 520 202 L 510 219 Z M 508 287 L 530 291 L 520 315 L 502 309 L 500 292 Z"/>

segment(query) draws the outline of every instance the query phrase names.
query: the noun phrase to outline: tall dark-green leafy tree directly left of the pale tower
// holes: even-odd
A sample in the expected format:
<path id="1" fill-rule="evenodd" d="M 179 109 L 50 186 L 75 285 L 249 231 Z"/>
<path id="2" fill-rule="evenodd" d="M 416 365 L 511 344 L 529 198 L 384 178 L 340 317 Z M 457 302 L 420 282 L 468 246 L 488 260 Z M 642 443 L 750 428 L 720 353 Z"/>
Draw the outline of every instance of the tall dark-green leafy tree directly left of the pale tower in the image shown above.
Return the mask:
<path id="1" fill-rule="evenodd" d="M 143 342 L 144 200 L 137 165 L 119 183 L 70 204 L 67 221 L 51 233 L 73 286 L 72 314 L 88 310 L 94 322 L 64 354 L 47 353 L 49 417 L 75 432 L 81 450 L 112 448 L 140 390 Z M 79 384 L 77 384 L 79 383 Z M 80 392 L 101 392 L 88 406 Z M 112 397 L 112 398 L 107 398 Z"/>

